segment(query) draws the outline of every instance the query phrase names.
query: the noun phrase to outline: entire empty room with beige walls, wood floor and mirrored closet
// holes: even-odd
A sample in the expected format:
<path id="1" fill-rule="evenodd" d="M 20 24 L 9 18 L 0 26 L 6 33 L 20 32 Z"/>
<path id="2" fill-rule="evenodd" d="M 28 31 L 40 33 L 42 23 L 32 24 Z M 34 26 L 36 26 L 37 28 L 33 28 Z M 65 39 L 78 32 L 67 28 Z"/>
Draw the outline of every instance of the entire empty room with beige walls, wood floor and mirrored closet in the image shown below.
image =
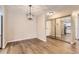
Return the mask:
<path id="1" fill-rule="evenodd" d="M 78 54 L 79 5 L 0 5 L 0 54 Z"/>

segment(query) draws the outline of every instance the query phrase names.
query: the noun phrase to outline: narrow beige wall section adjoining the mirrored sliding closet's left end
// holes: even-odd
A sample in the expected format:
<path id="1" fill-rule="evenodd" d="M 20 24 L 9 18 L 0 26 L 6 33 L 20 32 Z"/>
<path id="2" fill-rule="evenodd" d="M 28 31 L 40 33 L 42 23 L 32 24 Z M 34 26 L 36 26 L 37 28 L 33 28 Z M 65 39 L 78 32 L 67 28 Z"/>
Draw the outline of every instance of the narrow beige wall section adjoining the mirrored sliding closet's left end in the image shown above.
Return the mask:
<path id="1" fill-rule="evenodd" d="M 38 32 L 38 39 L 42 41 L 46 41 L 46 21 L 45 15 L 41 15 L 37 18 L 37 32 Z"/>

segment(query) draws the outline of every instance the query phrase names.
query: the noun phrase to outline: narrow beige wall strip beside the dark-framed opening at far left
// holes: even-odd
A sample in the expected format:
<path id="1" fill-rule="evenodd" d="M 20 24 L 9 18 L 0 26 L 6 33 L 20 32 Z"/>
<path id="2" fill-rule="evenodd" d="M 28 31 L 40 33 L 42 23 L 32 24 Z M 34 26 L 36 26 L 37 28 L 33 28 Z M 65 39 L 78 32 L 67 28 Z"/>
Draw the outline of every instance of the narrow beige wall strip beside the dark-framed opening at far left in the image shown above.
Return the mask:
<path id="1" fill-rule="evenodd" d="M 7 9 L 6 6 L 2 6 L 2 13 L 3 13 L 3 47 L 5 48 L 7 44 Z"/>

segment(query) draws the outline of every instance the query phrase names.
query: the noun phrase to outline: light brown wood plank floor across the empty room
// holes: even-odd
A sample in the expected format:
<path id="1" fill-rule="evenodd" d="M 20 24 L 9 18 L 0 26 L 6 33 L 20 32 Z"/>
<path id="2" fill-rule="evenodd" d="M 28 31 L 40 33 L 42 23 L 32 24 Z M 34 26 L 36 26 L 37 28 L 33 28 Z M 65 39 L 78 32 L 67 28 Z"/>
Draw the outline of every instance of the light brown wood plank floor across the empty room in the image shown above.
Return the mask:
<path id="1" fill-rule="evenodd" d="M 39 39 L 25 40 L 9 43 L 0 53 L 8 54 L 54 54 L 79 53 L 79 44 L 70 45 L 66 42 L 47 38 L 47 42 Z"/>

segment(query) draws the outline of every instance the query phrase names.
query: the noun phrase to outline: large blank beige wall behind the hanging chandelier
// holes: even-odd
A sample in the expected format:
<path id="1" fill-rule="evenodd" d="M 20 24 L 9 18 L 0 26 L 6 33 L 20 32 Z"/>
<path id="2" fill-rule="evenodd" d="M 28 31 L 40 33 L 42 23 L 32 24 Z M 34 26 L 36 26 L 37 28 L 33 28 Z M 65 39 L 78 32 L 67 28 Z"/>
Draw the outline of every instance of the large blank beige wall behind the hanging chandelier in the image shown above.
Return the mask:
<path id="1" fill-rule="evenodd" d="M 8 42 L 36 38 L 36 18 L 28 20 L 25 11 L 7 7 L 7 32 Z"/>

